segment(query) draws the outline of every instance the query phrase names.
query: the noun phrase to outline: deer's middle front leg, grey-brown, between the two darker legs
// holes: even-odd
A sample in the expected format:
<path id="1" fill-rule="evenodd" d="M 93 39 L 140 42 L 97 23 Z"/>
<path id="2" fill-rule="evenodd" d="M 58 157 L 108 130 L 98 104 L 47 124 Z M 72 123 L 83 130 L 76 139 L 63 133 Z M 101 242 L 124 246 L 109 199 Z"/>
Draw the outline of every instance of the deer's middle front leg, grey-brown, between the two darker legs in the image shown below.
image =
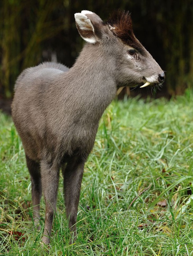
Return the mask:
<path id="1" fill-rule="evenodd" d="M 56 200 L 59 182 L 59 167 L 46 161 L 41 162 L 41 180 L 45 199 L 45 227 L 42 242 L 49 244 L 54 212 L 56 211 Z"/>

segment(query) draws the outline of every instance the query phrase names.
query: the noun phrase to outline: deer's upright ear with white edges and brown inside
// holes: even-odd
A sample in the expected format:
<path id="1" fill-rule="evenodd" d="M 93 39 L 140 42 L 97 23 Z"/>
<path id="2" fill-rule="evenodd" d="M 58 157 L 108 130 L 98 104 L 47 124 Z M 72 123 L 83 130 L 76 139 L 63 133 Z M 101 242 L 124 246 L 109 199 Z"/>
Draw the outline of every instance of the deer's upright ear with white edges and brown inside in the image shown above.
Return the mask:
<path id="1" fill-rule="evenodd" d="M 93 14 L 90 11 L 82 11 L 81 13 L 75 13 L 75 21 L 76 27 L 80 36 L 87 41 L 88 43 L 95 44 L 96 43 L 96 36 L 94 27 L 90 19 L 86 16 L 86 14 Z"/>

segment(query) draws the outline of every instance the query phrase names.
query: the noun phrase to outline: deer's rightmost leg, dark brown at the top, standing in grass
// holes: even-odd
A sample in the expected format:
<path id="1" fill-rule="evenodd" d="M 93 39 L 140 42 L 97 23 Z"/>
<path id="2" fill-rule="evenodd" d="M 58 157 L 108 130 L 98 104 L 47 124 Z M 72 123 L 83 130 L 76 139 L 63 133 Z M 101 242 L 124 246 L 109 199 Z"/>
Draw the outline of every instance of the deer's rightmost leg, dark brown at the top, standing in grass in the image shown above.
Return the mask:
<path id="1" fill-rule="evenodd" d="M 64 199 L 66 206 L 66 217 L 69 220 L 69 228 L 72 236 L 76 239 L 76 220 L 78 212 L 78 203 L 80 198 L 80 189 L 82 175 L 84 171 L 84 161 L 68 162 L 64 173 Z M 72 241 L 73 242 L 73 239 Z"/>

